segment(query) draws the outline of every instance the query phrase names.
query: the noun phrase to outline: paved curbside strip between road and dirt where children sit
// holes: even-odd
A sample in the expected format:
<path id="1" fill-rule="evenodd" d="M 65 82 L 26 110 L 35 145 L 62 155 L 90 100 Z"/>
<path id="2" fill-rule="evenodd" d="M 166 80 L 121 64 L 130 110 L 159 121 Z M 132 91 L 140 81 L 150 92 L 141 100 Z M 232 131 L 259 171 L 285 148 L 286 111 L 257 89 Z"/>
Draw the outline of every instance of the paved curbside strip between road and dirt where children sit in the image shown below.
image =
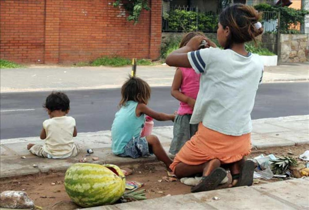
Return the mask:
<path id="1" fill-rule="evenodd" d="M 252 146 L 254 148 L 309 144 L 309 115 L 267 118 L 252 120 L 252 122 Z M 172 126 L 155 127 L 153 134 L 159 137 L 164 149 L 168 151 L 173 137 Z M 28 143 L 44 144 L 38 136 L 2 139 L 0 142 L 0 178 L 44 173 L 49 170 L 66 170 L 71 164 L 85 157 L 88 148 L 94 150 L 87 160 L 90 163 L 132 166 L 155 161 L 154 156 L 132 159 L 113 155 L 110 131 L 78 133 L 74 141 L 81 146 L 81 153 L 77 157 L 54 160 L 36 157 L 26 149 Z M 23 159 L 22 156 L 26 158 Z M 99 157 L 99 160 L 92 161 L 93 156 Z M 33 164 L 38 167 L 34 168 Z"/>

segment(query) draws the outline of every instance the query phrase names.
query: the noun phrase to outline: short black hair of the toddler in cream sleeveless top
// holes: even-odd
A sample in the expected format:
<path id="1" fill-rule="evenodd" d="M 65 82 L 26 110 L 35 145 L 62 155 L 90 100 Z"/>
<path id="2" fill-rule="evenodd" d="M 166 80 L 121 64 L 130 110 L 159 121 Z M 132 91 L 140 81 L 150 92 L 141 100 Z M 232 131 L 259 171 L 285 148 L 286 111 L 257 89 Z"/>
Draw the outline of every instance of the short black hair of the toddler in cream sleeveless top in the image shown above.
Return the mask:
<path id="1" fill-rule="evenodd" d="M 70 110 L 70 100 L 64 93 L 52 92 L 49 96 L 47 96 L 43 107 L 47 108 L 49 111 L 67 111 Z"/>

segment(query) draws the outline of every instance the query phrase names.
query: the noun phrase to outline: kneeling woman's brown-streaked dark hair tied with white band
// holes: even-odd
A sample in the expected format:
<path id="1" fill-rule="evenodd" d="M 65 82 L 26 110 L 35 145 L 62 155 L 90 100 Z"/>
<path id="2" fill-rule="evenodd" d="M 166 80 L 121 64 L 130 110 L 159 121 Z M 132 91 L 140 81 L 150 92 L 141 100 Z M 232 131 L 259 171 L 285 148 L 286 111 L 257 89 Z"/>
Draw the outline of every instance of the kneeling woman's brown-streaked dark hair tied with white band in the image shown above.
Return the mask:
<path id="1" fill-rule="evenodd" d="M 261 19 L 262 13 L 257 12 L 252 6 L 234 4 L 225 8 L 219 15 L 219 23 L 223 29 L 230 28 L 224 49 L 231 48 L 233 43 L 244 43 L 254 40 L 263 33 L 263 28 L 256 29 L 254 26 Z"/>

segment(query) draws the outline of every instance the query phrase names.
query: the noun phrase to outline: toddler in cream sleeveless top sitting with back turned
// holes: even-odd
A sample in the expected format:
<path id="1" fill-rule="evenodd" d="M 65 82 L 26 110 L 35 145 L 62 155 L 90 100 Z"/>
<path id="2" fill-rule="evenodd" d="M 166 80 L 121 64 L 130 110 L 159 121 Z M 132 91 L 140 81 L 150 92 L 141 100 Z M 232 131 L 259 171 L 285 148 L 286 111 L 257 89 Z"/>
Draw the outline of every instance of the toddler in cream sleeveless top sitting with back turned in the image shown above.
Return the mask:
<path id="1" fill-rule="evenodd" d="M 70 100 L 61 92 L 52 92 L 44 105 L 50 119 L 43 122 L 41 139 L 44 145 L 28 144 L 27 149 L 39 157 L 53 159 L 74 157 L 79 152 L 79 146 L 74 143 L 77 136 L 76 123 L 73 117 L 66 116 L 70 111 Z"/>

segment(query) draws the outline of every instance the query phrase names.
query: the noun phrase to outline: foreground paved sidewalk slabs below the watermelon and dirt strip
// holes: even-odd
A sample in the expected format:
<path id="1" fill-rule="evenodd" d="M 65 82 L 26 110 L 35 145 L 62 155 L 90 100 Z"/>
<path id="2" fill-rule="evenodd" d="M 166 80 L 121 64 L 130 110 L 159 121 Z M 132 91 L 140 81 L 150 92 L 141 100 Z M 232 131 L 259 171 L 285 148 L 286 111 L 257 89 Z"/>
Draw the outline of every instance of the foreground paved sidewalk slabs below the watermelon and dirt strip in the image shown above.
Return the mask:
<path id="1" fill-rule="evenodd" d="M 85 210 L 158 209 L 308 209 L 309 178 L 250 187 L 174 195 L 130 203 L 84 208 Z M 213 200 L 218 197 L 220 200 Z"/>

